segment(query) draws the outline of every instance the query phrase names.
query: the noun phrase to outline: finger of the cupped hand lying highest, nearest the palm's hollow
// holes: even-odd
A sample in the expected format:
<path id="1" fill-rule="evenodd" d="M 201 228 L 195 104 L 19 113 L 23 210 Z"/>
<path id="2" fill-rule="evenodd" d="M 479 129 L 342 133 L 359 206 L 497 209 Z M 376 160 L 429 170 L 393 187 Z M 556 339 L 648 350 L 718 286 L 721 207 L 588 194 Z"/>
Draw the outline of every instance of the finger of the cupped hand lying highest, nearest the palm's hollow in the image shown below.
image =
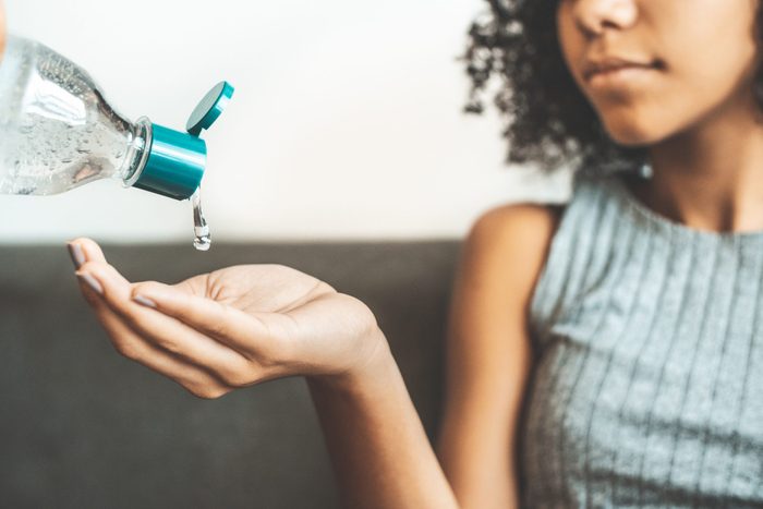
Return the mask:
<path id="1" fill-rule="evenodd" d="M 263 357 L 283 348 L 295 324 L 279 313 L 244 313 L 177 287 L 143 282 L 133 287 L 133 299 L 147 300 L 161 313 L 215 338 L 247 359 Z"/>

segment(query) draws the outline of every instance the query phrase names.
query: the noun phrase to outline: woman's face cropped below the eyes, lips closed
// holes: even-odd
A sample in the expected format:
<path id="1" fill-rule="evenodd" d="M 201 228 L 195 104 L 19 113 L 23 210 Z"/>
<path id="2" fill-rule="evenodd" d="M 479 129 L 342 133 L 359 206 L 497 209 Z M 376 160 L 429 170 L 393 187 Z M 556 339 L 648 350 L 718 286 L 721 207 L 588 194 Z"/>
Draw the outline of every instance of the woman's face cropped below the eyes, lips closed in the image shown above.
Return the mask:
<path id="1" fill-rule="evenodd" d="M 613 140 L 649 145 L 731 105 L 753 111 L 756 10 L 758 0 L 559 0 L 557 28 Z"/>

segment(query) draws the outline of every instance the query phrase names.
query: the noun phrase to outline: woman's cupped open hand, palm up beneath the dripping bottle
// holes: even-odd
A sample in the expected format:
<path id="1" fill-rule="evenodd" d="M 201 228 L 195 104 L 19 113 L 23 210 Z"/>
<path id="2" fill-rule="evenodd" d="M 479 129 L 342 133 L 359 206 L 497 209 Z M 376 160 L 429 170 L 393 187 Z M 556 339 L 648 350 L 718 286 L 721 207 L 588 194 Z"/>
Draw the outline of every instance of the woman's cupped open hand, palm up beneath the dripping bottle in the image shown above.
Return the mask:
<path id="1" fill-rule="evenodd" d="M 69 249 L 116 349 L 202 398 L 291 375 L 349 379 L 388 351 L 365 304 L 289 267 L 131 283 L 92 240 Z"/>

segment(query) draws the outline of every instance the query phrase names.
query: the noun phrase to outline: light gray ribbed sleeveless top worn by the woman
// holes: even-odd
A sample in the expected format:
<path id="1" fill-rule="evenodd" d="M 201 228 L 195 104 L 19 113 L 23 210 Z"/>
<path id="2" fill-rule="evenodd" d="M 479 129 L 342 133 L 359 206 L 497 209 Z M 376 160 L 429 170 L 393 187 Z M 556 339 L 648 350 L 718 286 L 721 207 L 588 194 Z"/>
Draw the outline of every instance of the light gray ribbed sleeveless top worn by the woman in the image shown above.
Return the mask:
<path id="1" fill-rule="evenodd" d="M 578 177 L 535 287 L 524 507 L 763 507 L 763 232 Z"/>

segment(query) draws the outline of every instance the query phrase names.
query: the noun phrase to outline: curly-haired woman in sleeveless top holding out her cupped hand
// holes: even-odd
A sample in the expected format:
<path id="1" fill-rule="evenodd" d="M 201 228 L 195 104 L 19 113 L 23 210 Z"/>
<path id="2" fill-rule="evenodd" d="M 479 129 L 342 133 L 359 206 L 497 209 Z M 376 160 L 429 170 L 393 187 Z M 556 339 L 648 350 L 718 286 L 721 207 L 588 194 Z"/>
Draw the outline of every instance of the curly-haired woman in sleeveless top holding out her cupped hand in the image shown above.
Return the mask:
<path id="1" fill-rule="evenodd" d="M 80 239 L 85 298 L 203 398 L 305 376 L 348 507 L 763 504 L 758 2 L 489 3 L 469 70 L 505 78 L 510 159 L 578 177 L 471 229 L 437 456 L 373 314 L 315 278 L 131 283 Z"/>

